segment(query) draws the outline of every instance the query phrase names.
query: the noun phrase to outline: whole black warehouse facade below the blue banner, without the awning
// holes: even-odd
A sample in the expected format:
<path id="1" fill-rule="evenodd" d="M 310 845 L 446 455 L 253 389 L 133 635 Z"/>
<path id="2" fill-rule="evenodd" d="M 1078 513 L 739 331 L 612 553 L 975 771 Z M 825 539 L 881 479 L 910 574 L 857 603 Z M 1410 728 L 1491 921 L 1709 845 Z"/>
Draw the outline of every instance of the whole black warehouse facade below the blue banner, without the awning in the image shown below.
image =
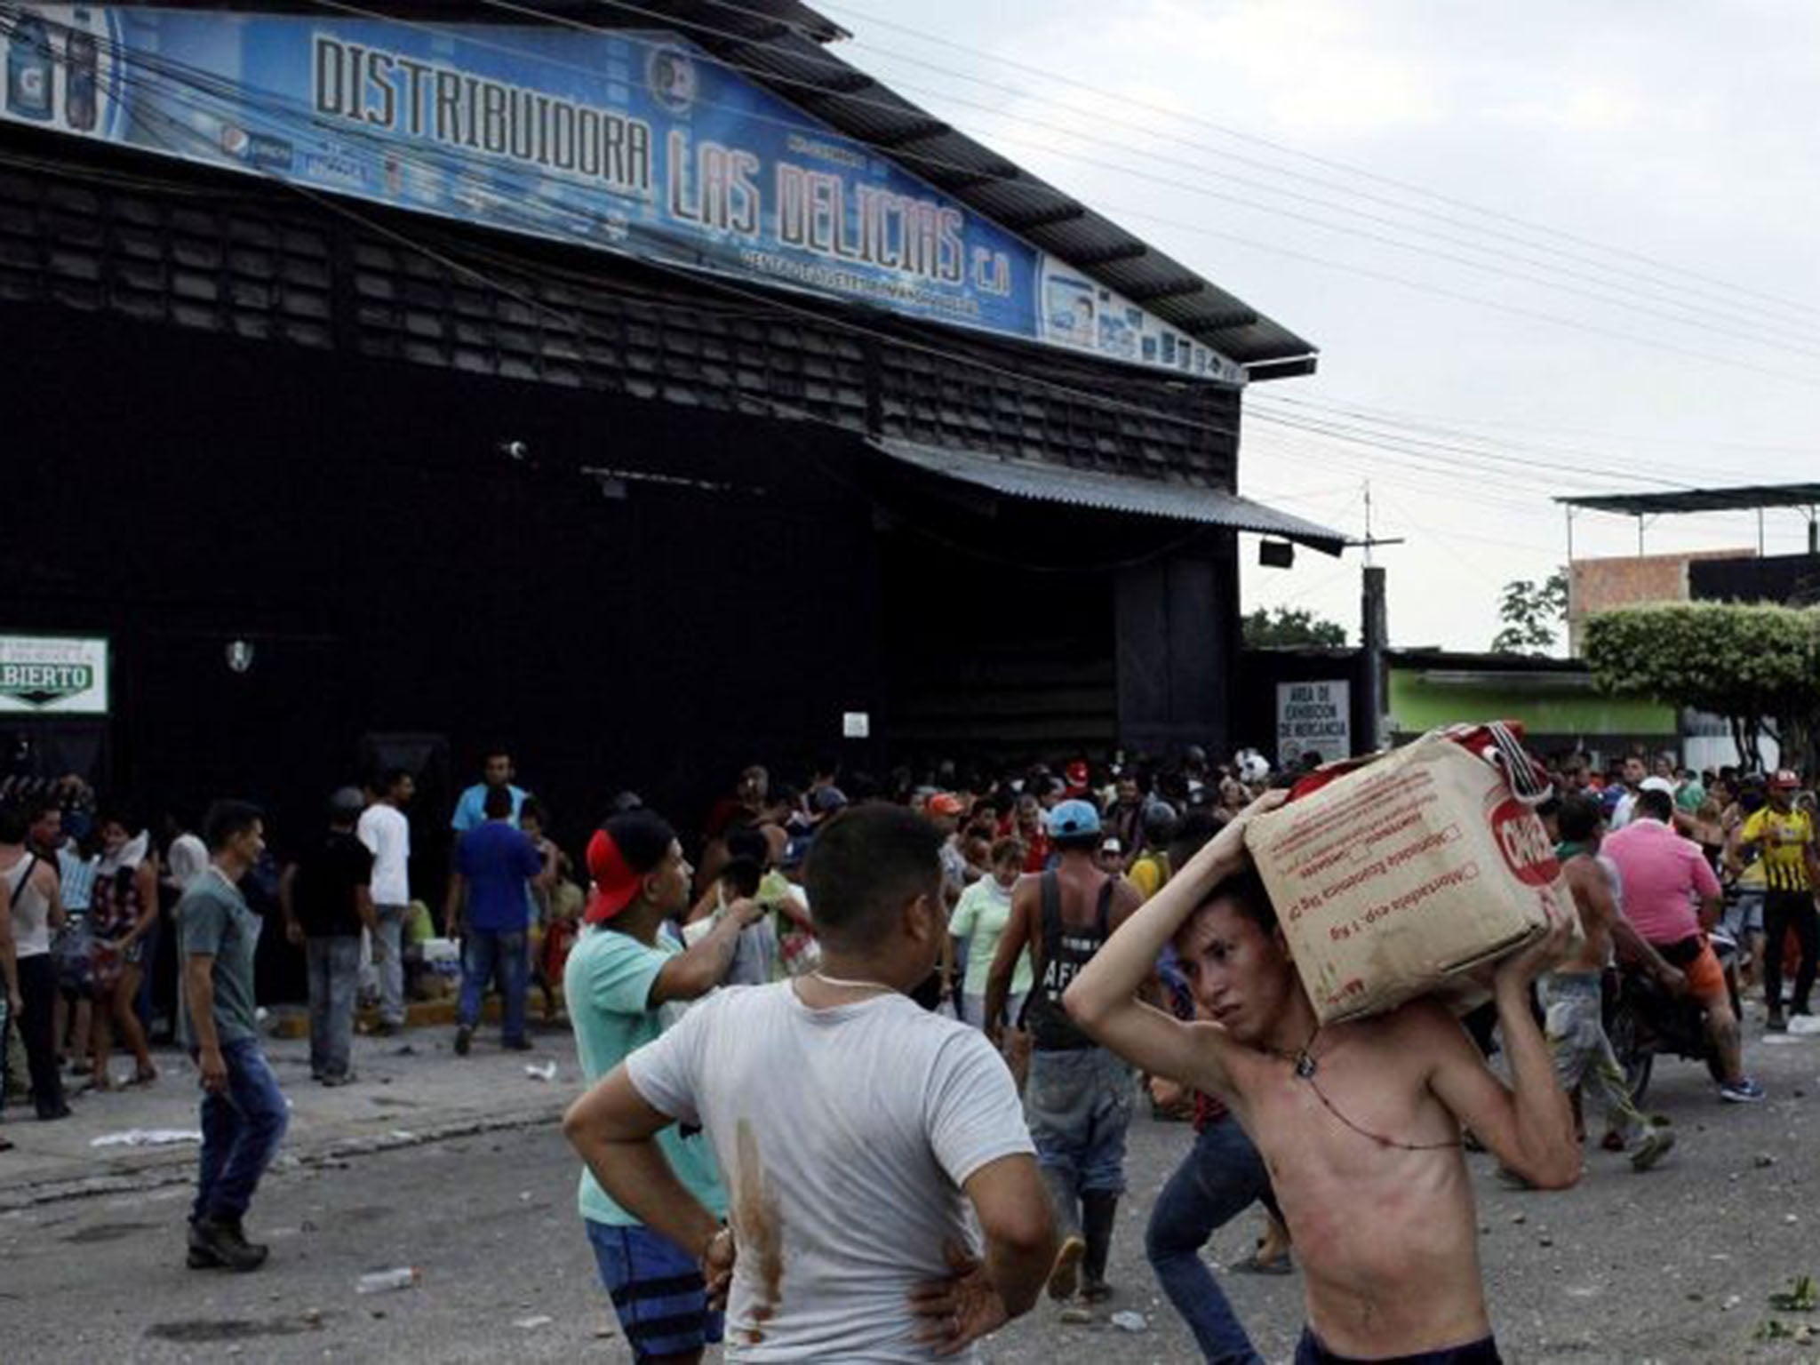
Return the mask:
<path id="1" fill-rule="evenodd" d="M 624 784 L 692 828 L 744 763 L 843 748 L 848 710 L 877 772 L 1219 746 L 1230 533 L 986 499 L 863 439 L 1223 488 L 1234 389 L 0 142 L 38 158 L 0 169 L 5 488 L 35 510 L 0 626 L 113 639 L 116 792 L 244 792 L 282 844 L 375 755 L 426 755 L 433 854 L 493 737 L 571 839 Z M 608 500 L 582 466 L 659 479 Z"/>

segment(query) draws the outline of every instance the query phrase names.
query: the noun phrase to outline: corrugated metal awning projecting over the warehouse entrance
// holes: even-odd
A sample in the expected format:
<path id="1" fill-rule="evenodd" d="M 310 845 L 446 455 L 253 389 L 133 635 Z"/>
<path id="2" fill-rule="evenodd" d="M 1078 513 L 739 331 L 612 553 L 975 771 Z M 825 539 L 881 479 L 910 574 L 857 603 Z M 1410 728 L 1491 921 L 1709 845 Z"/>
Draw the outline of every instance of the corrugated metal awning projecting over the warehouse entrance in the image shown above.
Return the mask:
<path id="1" fill-rule="evenodd" d="M 1003 497 L 1279 535 L 1285 541 L 1298 541 L 1310 550 L 1320 550 L 1323 555 L 1338 555 L 1345 548 L 1345 535 L 1340 531 L 1219 488 L 1165 484 L 1158 479 L 1136 479 L 1099 470 L 1070 470 L 1059 464 L 1014 460 L 977 450 L 925 446 L 894 437 L 872 437 L 866 444 L 903 464 L 943 479 L 986 488 Z"/>

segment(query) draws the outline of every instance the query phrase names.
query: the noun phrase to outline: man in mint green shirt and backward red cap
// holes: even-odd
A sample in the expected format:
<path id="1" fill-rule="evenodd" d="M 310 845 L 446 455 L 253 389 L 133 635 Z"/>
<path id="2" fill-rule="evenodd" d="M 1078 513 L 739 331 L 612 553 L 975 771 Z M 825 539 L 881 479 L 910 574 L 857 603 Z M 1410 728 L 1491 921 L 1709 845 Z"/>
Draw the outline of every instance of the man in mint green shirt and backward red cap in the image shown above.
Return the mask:
<path id="1" fill-rule="evenodd" d="M 688 950 L 659 934 L 666 919 L 688 908 L 693 868 L 675 830 L 650 810 L 601 826 L 588 843 L 588 928 L 570 954 L 562 990 L 581 1065 L 593 1085 L 675 1023 L 688 1001 L 721 985 L 739 930 L 764 910 L 735 901 Z M 670 1127 L 659 1145 L 690 1194 L 724 1218 L 726 1188 L 701 1132 Z M 721 1340 L 723 1320 L 708 1309 L 695 1256 L 633 1219 L 586 1168 L 579 1205 L 601 1283 L 635 1360 L 699 1361 L 703 1349 Z"/>

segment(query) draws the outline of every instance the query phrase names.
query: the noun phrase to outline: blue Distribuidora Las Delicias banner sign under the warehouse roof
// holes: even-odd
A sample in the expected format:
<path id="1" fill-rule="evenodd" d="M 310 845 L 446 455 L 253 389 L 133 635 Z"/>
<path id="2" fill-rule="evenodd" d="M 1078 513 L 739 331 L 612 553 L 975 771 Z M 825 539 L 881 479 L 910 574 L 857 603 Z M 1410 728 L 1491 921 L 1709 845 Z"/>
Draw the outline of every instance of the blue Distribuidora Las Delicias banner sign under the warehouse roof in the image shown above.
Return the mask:
<path id="1" fill-rule="evenodd" d="M 1241 382 L 668 33 L 0 0 L 11 122 Z"/>

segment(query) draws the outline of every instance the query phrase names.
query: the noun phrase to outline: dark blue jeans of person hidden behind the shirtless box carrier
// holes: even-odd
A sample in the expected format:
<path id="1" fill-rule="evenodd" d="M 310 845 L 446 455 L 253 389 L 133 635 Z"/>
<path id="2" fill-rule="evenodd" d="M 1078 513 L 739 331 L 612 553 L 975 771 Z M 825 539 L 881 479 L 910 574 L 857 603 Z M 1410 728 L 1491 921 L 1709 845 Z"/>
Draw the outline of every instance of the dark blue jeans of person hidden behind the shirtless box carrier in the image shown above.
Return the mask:
<path id="1" fill-rule="evenodd" d="M 1214 1228 L 1259 1199 L 1272 1201 L 1263 1158 L 1238 1121 L 1214 1119 L 1201 1128 L 1150 1210 L 1145 1256 L 1208 1365 L 1263 1365 L 1201 1259 Z"/>

